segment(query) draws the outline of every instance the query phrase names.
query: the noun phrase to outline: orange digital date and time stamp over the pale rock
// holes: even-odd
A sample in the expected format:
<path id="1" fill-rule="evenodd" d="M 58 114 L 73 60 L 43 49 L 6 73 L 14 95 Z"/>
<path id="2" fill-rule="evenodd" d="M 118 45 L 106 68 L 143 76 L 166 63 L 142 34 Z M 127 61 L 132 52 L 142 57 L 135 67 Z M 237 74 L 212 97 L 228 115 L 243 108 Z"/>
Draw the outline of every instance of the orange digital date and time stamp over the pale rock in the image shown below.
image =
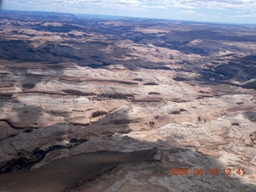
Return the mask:
<path id="1" fill-rule="evenodd" d="M 240 175 L 244 176 L 246 174 L 246 170 L 244 168 L 224 168 L 221 170 L 218 170 L 217 168 L 209 168 L 209 169 L 202 169 L 202 168 L 194 168 L 190 170 L 189 168 L 170 168 L 170 176 L 174 175 L 226 175 L 226 176 L 234 176 L 234 175 Z"/>

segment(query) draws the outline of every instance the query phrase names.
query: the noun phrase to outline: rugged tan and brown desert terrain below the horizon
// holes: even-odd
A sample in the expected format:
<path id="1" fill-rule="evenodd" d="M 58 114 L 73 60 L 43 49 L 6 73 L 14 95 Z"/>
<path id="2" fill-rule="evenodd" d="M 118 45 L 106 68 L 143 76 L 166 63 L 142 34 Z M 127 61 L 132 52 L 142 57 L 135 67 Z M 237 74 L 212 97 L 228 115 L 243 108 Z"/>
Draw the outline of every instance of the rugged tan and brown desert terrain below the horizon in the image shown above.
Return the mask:
<path id="1" fill-rule="evenodd" d="M 256 191 L 255 43 L 253 25 L 3 10 L 0 191 Z"/>

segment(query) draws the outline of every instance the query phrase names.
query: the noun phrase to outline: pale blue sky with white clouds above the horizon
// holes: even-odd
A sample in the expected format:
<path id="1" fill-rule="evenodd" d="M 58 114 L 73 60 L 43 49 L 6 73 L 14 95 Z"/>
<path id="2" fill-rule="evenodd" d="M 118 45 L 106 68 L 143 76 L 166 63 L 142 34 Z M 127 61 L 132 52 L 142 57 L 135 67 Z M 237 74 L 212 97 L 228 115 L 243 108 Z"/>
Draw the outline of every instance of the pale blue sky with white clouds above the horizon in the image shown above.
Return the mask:
<path id="1" fill-rule="evenodd" d="M 256 0 L 3 0 L 2 8 L 256 24 Z"/>

